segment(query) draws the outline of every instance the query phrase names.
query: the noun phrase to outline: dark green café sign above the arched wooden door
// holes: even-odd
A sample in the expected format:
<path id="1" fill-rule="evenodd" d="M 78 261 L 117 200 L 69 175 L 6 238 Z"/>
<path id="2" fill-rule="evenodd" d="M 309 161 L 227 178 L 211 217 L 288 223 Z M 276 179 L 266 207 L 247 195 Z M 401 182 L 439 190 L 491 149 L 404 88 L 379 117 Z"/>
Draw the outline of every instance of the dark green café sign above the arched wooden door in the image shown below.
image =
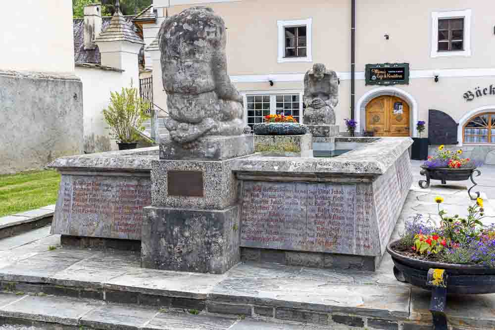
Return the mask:
<path id="1" fill-rule="evenodd" d="M 366 85 L 409 85 L 409 63 L 366 64 Z"/>

